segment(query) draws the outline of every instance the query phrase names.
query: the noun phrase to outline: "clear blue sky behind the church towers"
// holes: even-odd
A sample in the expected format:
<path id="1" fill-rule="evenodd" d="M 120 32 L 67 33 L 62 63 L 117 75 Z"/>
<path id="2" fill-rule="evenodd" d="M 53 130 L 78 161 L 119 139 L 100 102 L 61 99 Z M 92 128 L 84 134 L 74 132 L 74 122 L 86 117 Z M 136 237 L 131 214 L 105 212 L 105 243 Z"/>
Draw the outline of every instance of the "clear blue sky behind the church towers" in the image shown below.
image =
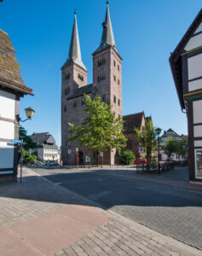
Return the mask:
<path id="1" fill-rule="evenodd" d="M 202 7 L 201 0 L 110 0 L 118 53 L 123 58 L 123 115 L 144 111 L 153 125 L 188 134 L 170 72 L 169 56 Z M 21 77 L 34 96 L 20 99 L 35 110 L 28 131 L 49 131 L 61 145 L 61 67 L 70 46 L 73 12 L 77 9 L 82 60 L 92 82 L 92 53 L 101 43 L 105 0 L 4 0 L 0 28 L 9 34 Z"/>

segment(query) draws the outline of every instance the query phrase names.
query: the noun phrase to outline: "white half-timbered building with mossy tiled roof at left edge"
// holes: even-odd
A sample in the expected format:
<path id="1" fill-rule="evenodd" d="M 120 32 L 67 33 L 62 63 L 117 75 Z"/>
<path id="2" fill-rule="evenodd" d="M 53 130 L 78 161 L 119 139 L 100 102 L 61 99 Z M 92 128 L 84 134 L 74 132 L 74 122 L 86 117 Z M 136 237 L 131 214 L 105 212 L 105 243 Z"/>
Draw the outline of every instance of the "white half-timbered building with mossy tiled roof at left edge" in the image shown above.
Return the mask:
<path id="1" fill-rule="evenodd" d="M 0 183 L 17 180 L 20 97 L 32 95 L 20 77 L 9 35 L 0 29 Z"/>

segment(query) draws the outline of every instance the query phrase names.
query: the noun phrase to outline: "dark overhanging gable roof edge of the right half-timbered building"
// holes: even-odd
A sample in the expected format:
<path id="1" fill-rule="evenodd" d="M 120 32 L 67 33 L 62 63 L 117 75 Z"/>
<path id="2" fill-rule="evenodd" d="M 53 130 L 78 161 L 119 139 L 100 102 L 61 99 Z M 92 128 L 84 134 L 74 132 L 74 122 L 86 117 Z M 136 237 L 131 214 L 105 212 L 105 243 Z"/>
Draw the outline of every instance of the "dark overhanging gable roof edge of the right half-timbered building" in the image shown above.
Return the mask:
<path id="1" fill-rule="evenodd" d="M 179 44 L 177 44 L 176 49 L 170 54 L 170 68 L 172 76 L 176 85 L 176 92 L 179 98 L 179 102 L 182 109 L 185 109 L 183 101 L 183 88 L 182 88 L 182 57 L 181 54 L 186 52 L 184 47 L 188 44 L 188 40 L 196 28 L 199 26 L 202 21 L 202 9 L 200 9 L 199 14 L 193 20 L 191 26 L 189 26 L 188 31 L 184 34 Z"/>

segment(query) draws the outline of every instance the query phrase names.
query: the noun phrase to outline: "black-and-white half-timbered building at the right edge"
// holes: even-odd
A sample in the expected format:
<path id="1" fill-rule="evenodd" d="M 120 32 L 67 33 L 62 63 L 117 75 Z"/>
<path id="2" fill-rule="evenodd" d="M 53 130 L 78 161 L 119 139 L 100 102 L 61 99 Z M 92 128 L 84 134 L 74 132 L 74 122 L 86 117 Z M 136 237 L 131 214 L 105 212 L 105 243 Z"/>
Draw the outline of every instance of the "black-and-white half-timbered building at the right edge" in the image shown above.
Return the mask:
<path id="1" fill-rule="evenodd" d="M 202 181 L 202 9 L 171 53 L 170 67 L 188 117 L 189 179 Z"/>

